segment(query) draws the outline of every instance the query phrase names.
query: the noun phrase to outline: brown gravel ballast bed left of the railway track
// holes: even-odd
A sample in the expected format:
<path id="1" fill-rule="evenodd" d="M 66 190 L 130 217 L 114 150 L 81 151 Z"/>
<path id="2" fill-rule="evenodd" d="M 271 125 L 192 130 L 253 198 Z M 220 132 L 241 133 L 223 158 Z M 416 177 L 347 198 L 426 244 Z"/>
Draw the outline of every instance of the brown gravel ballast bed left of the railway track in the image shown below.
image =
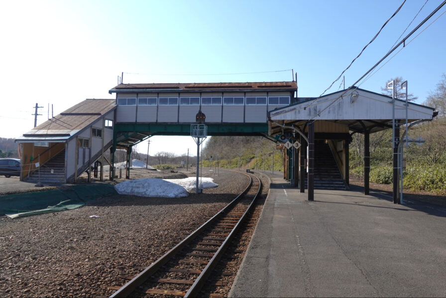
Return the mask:
<path id="1" fill-rule="evenodd" d="M 144 177 L 144 170 L 138 173 Z M 110 296 L 109 287 L 150 265 L 248 183 L 246 176 L 222 170 L 204 170 L 204 176 L 219 187 L 187 198 L 115 195 L 75 210 L 0 218 L 1 297 Z"/>

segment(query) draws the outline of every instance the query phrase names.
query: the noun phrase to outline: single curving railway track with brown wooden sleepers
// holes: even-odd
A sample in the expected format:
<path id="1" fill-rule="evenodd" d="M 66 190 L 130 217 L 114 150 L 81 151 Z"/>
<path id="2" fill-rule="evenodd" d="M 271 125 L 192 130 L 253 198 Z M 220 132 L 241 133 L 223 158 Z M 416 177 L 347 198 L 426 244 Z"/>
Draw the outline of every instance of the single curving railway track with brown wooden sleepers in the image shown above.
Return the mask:
<path id="1" fill-rule="evenodd" d="M 127 277 L 124 286 L 111 287 L 117 290 L 111 298 L 197 297 L 260 194 L 260 179 L 242 174 L 250 183 L 240 195 L 141 273 Z"/>

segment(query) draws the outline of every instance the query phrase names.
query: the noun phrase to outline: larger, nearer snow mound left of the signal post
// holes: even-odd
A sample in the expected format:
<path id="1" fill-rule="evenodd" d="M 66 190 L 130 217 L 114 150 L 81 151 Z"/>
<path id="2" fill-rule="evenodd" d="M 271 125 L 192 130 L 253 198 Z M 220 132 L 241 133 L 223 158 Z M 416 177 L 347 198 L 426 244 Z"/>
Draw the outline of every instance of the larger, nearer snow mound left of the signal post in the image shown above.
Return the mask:
<path id="1" fill-rule="evenodd" d="M 189 196 L 184 187 L 157 178 L 127 180 L 116 184 L 114 189 L 120 195 L 139 197 L 183 198 Z"/>

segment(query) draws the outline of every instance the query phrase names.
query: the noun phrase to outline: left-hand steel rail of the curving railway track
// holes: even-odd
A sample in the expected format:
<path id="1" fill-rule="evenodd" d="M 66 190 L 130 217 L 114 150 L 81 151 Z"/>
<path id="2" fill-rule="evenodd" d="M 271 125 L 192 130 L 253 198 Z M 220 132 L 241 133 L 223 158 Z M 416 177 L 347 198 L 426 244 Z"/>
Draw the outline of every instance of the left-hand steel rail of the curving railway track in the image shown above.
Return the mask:
<path id="1" fill-rule="evenodd" d="M 218 220 L 221 216 L 223 216 L 228 209 L 232 208 L 235 204 L 237 204 L 238 200 L 251 188 L 252 186 L 252 177 L 245 173 L 241 173 L 250 178 L 249 185 L 240 193 L 235 199 L 233 199 L 229 204 L 227 204 L 220 212 L 214 215 L 210 220 L 206 223 L 202 224 L 199 228 L 189 234 L 186 238 L 184 238 L 180 243 L 175 245 L 172 249 L 166 252 L 163 256 L 161 256 L 158 260 L 153 262 L 150 266 L 145 268 L 141 273 L 131 279 L 128 283 L 122 286 L 119 290 L 113 293 L 110 298 L 117 297 L 127 297 L 129 296 L 138 286 L 144 283 L 150 276 L 152 276 L 156 271 L 160 269 L 161 266 L 169 262 L 169 260 L 181 251 L 186 245 L 191 242 L 194 238 L 198 236 L 204 229 L 208 228 L 211 224 L 213 224 L 216 220 Z M 259 180 L 260 181 L 260 180 Z M 260 185 L 259 185 L 260 189 Z M 258 192 L 257 192 L 258 194 Z M 257 195 L 256 195 L 257 196 Z M 252 203 L 251 203 L 252 204 Z"/>

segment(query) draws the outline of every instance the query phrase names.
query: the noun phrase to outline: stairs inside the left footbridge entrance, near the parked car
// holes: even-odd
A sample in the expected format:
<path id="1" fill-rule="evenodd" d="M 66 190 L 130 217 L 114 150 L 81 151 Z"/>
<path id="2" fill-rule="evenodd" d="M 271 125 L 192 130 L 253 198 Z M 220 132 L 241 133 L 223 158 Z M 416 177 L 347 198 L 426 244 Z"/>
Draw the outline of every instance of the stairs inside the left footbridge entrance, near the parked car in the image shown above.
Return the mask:
<path id="1" fill-rule="evenodd" d="M 40 174 L 40 178 L 39 178 Z M 41 165 L 39 169 L 29 175 L 27 182 L 42 182 L 48 184 L 65 183 L 65 149 L 51 160 Z"/>

